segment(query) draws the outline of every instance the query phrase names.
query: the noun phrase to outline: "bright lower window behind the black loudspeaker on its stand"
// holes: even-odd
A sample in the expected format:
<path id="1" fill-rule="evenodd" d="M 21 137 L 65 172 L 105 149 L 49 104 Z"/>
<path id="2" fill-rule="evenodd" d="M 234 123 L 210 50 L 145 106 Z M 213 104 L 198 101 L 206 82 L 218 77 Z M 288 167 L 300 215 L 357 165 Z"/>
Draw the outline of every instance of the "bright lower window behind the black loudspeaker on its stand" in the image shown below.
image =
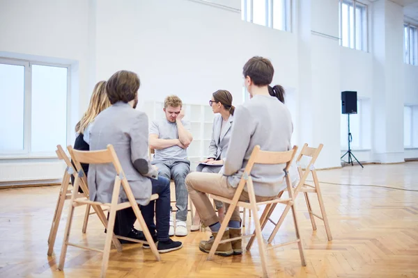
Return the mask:
<path id="1" fill-rule="evenodd" d="M 348 115 L 341 114 L 341 149 L 348 149 Z M 350 114 L 351 149 L 371 148 L 371 110 L 369 99 L 357 99 L 357 114 Z"/>

